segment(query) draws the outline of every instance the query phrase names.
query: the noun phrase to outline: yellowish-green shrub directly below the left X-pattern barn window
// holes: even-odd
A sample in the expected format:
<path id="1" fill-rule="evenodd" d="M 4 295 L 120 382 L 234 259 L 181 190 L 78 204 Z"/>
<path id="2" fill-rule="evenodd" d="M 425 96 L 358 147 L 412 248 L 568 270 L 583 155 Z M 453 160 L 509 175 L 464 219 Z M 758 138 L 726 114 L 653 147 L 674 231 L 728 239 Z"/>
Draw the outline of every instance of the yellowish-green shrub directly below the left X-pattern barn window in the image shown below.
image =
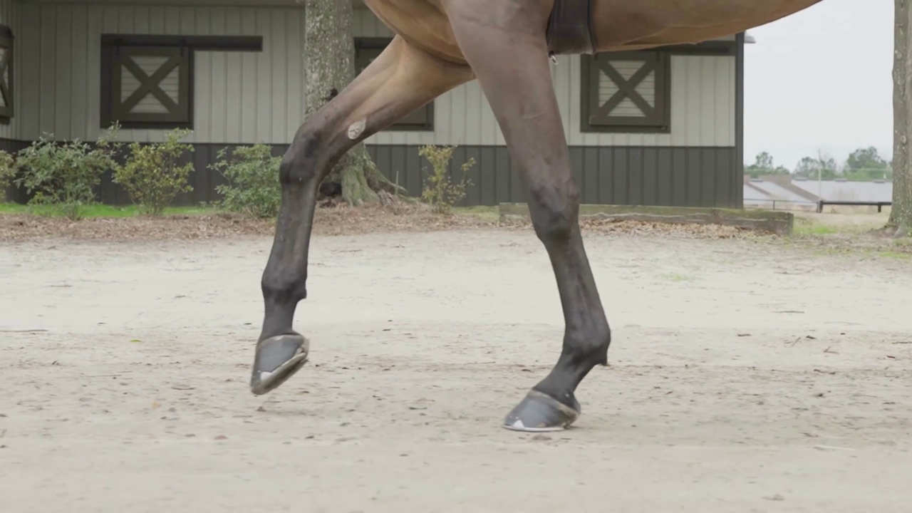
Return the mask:
<path id="1" fill-rule="evenodd" d="M 190 133 L 173 130 L 164 142 L 130 143 L 130 157 L 115 168 L 114 183 L 126 189 L 140 214 L 161 215 L 174 196 L 193 190 L 189 182 L 193 163 L 179 165 L 184 152 L 193 152 L 190 144 L 181 143 Z"/>

